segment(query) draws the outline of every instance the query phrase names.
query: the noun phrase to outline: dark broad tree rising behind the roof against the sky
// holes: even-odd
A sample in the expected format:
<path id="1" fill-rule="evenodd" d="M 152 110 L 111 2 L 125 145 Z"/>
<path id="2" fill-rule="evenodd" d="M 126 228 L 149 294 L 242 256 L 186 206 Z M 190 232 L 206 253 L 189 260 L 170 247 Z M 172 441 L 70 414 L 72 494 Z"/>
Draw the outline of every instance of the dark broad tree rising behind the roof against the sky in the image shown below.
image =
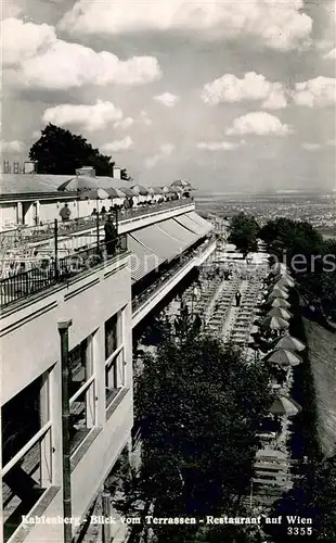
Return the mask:
<path id="1" fill-rule="evenodd" d="M 112 157 L 101 154 L 82 136 L 49 123 L 29 151 L 38 174 L 75 175 L 82 166 L 92 166 L 99 176 L 113 176 Z M 127 176 L 126 169 L 124 175 Z"/>

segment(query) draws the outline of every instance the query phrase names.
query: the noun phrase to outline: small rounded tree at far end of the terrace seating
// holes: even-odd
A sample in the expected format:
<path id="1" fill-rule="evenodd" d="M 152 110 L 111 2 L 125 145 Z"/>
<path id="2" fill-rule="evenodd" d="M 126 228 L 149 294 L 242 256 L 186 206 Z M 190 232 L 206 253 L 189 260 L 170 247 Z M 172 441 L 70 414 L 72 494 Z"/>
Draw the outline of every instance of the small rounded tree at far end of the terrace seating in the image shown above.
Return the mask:
<path id="1" fill-rule="evenodd" d="M 231 219 L 229 243 L 242 251 L 244 258 L 258 250 L 259 225 L 254 217 L 240 213 Z"/>

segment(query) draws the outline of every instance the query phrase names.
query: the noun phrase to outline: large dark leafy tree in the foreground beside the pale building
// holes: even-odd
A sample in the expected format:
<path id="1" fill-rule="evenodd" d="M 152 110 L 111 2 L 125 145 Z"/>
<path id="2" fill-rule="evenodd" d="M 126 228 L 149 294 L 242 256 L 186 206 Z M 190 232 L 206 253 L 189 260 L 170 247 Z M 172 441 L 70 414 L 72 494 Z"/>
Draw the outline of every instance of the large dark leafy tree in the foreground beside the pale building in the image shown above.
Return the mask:
<path id="1" fill-rule="evenodd" d="M 182 314 L 177 336 L 145 356 L 135 383 L 142 466 L 131 494 L 156 517 L 236 513 L 249 488 L 256 430 L 272 402 L 264 366 L 247 365 L 188 319 Z M 190 541 L 198 530 L 152 528 L 160 543 Z"/>

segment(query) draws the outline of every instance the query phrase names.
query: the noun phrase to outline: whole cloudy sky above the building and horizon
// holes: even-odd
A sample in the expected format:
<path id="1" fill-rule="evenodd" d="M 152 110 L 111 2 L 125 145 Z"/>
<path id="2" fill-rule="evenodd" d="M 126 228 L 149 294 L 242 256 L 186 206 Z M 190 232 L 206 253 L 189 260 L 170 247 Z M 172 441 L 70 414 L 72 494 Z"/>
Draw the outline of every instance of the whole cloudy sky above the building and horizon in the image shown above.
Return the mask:
<path id="1" fill-rule="evenodd" d="M 335 0 L 5 0 L 2 159 L 49 123 L 137 182 L 335 188 Z"/>

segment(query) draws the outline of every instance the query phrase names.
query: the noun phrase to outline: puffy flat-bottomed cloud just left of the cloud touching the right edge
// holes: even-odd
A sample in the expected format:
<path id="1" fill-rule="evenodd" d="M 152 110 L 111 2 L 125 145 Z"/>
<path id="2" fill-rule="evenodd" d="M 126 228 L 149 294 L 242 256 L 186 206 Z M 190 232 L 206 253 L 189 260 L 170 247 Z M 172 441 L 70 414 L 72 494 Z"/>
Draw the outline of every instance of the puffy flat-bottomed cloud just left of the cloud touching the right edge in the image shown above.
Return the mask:
<path id="1" fill-rule="evenodd" d="M 261 74 L 249 72 L 238 79 L 233 74 L 225 74 L 204 86 L 202 99 L 208 104 L 222 102 L 243 102 L 263 100 L 263 108 L 283 109 L 287 101 L 285 89 L 281 83 L 270 83 Z"/>

